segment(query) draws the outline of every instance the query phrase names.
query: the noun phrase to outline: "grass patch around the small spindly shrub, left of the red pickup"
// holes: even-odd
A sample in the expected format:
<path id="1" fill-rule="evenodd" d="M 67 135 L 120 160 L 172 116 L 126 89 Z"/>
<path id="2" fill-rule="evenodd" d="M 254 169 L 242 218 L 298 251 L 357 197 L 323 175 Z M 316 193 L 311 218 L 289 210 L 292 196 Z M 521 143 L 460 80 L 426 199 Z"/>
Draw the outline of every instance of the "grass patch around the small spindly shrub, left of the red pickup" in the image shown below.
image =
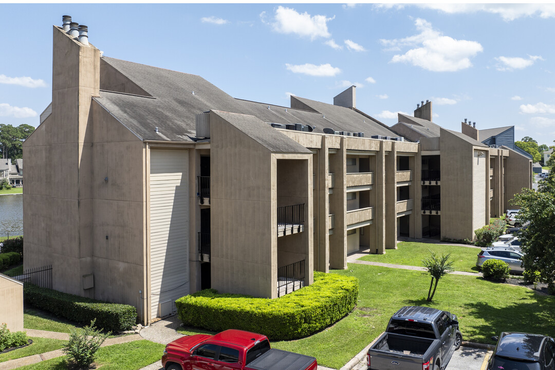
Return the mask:
<path id="1" fill-rule="evenodd" d="M 164 344 L 146 340 L 114 344 L 102 347 L 97 352 L 97 367 L 102 370 L 137 370 L 162 358 Z M 19 370 L 67 370 L 65 356 L 49 359 L 32 365 L 18 367 Z"/>

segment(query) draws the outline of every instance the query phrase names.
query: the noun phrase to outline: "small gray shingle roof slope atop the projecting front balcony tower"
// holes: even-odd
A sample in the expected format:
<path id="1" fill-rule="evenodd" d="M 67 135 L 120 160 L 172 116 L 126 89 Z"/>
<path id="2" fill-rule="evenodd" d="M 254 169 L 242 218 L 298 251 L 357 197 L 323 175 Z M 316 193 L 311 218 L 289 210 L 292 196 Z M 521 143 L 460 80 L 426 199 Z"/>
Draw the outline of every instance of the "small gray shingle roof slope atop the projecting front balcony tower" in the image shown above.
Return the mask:
<path id="1" fill-rule="evenodd" d="M 273 153 L 312 153 L 255 116 L 217 110 L 214 113 Z"/>

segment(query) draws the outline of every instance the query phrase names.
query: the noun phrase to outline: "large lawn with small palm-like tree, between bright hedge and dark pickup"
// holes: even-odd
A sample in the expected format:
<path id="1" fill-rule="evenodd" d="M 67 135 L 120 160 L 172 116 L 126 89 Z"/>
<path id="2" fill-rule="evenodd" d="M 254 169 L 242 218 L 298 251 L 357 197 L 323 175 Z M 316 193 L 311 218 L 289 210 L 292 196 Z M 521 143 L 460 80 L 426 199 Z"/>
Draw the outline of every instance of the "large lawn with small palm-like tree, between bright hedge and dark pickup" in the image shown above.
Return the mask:
<path id="1" fill-rule="evenodd" d="M 555 297 L 524 287 L 448 275 L 438 284 L 433 302 L 427 302 L 430 277 L 423 272 L 354 263 L 334 272 L 359 278 L 354 312 L 311 337 L 273 342 L 273 347 L 314 356 L 318 364 L 339 369 L 385 330 L 393 313 L 410 305 L 455 313 L 465 341 L 495 344 L 490 337 L 502 331 L 555 335 Z M 181 332 L 207 333 L 191 328 Z"/>

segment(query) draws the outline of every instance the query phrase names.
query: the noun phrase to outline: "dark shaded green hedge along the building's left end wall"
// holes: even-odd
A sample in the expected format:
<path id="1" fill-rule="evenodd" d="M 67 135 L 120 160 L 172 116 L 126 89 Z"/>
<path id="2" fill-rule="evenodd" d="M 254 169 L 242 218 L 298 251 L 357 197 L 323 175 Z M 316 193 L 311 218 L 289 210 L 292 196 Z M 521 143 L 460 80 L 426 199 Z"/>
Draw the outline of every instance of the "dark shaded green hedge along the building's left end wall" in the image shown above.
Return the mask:
<path id="1" fill-rule="evenodd" d="M 133 306 L 97 301 L 29 283 L 23 287 L 23 297 L 33 306 L 83 325 L 90 325 L 96 318 L 95 326 L 104 331 L 128 330 L 137 322 L 137 310 Z"/>

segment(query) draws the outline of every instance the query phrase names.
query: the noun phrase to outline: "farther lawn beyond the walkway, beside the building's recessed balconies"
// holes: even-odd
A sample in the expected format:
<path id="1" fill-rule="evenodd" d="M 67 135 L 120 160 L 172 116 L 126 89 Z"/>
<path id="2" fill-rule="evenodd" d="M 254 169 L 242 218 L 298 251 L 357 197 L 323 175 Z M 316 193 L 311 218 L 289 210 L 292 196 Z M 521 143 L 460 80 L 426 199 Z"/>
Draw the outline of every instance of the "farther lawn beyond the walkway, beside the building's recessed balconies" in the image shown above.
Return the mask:
<path id="1" fill-rule="evenodd" d="M 455 271 L 479 271 L 476 267 L 476 255 L 480 252 L 479 249 L 445 244 L 401 242 L 397 244 L 397 249 L 388 249 L 385 255 L 366 255 L 359 260 L 422 266 L 422 260 L 430 256 L 430 250 L 438 256 L 451 253 L 451 259 L 455 261 L 453 263 Z"/>

